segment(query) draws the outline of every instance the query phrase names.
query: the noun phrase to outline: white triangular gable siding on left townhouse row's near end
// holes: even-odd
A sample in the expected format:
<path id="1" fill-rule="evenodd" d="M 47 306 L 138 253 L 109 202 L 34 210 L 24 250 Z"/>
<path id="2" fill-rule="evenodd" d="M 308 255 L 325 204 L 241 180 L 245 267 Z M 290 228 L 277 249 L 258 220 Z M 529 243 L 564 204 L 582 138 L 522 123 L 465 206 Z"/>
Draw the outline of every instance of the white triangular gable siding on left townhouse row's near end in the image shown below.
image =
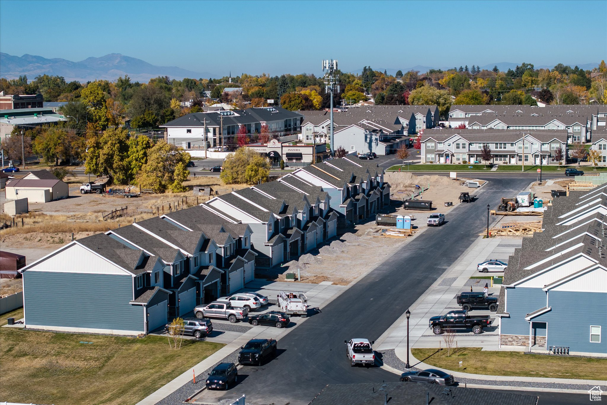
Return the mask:
<path id="1" fill-rule="evenodd" d="M 75 259 L 77 258 L 77 260 Z M 74 243 L 64 250 L 55 251 L 26 271 L 50 271 L 54 273 L 130 274 L 103 257 Z"/>

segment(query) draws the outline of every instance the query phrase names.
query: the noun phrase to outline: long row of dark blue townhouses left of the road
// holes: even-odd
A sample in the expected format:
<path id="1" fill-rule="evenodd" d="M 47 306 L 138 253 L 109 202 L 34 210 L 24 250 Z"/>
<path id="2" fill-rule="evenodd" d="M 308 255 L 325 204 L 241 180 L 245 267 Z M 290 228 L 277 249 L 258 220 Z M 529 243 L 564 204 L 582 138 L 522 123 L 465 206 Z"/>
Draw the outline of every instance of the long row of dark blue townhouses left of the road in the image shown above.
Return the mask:
<path id="1" fill-rule="evenodd" d="M 377 165 L 334 159 L 74 240 L 20 271 L 25 327 L 145 335 L 242 289 L 390 202 Z"/>

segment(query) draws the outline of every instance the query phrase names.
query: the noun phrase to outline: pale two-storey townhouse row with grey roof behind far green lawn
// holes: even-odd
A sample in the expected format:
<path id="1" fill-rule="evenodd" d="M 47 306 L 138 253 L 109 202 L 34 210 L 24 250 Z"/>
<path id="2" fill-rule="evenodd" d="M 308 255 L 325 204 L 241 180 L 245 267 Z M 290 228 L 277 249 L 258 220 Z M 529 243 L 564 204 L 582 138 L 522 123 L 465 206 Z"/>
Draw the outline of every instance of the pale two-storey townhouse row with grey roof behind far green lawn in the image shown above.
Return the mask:
<path id="1" fill-rule="evenodd" d="M 558 165 L 568 154 L 567 137 L 565 130 L 429 129 L 421 137 L 421 162 L 481 163 L 487 145 L 491 163 Z"/>

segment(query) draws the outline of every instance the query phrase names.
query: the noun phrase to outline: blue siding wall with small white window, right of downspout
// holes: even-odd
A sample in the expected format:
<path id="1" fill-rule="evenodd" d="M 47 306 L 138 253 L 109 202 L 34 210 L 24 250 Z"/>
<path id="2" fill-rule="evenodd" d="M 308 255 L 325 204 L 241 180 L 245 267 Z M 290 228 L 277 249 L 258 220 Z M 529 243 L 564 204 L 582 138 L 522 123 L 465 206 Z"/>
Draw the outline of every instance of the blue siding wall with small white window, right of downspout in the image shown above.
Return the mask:
<path id="1" fill-rule="evenodd" d="M 548 322 L 549 346 L 572 352 L 607 353 L 607 293 L 549 291 L 551 311 L 534 321 Z M 601 342 L 590 342 L 590 325 L 601 327 Z"/>

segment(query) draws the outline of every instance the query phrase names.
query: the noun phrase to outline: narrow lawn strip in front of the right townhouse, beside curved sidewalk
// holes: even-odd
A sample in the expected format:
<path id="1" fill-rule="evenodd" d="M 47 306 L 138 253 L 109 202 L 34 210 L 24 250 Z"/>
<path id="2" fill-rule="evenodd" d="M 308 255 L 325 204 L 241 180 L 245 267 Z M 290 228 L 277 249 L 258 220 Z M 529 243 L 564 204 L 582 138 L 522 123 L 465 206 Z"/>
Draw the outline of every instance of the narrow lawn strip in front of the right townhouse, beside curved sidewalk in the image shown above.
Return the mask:
<path id="1" fill-rule="evenodd" d="M 438 349 L 411 349 L 419 361 L 441 369 L 483 375 L 544 378 L 605 379 L 607 359 L 526 355 L 523 352 L 481 352 L 480 347 L 460 348 L 447 356 Z M 463 361 L 460 368 L 459 362 Z"/>

